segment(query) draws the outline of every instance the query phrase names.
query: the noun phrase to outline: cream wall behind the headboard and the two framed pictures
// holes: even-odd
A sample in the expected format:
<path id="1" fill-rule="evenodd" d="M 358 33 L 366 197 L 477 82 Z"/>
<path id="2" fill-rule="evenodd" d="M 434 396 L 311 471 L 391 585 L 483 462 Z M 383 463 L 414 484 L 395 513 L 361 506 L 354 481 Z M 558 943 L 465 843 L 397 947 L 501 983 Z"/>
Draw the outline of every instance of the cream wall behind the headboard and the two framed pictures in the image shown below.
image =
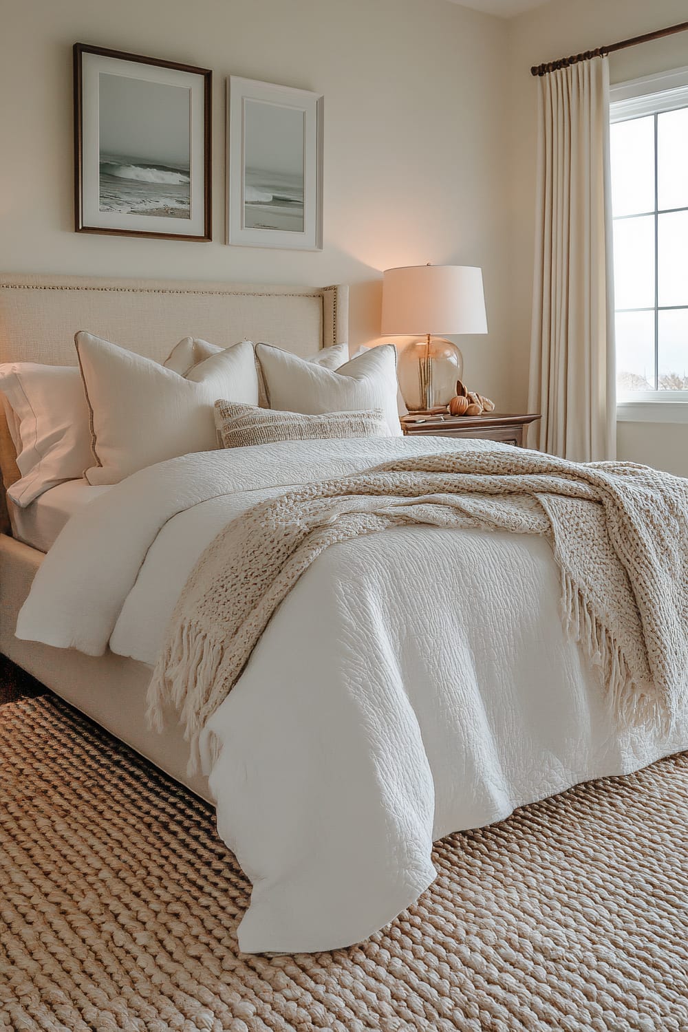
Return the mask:
<path id="1" fill-rule="evenodd" d="M 349 282 L 352 344 L 378 335 L 380 271 L 482 265 L 490 333 L 461 338 L 469 386 L 509 410 L 505 22 L 447 0 L 4 0 L 0 268 Z M 72 231 L 71 45 L 211 68 L 210 244 Z M 224 244 L 224 79 L 325 95 L 325 249 Z"/>

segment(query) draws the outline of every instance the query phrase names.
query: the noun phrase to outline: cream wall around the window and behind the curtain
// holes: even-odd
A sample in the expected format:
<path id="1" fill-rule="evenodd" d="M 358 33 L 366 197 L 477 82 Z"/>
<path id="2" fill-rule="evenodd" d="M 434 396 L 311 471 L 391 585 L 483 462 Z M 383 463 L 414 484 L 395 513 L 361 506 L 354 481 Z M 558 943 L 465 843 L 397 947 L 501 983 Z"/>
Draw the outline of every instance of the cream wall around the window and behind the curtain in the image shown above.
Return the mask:
<path id="1" fill-rule="evenodd" d="M 528 393 L 528 347 L 532 291 L 535 83 L 531 65 L 594 50 L 602 43 L 685 22 L 686 0 L 551 0 L 510 25 L 510 93 L 513 230 L 514 391 L 524 406 Z M 688 65 L 688 34 L 643 43 L 610 57 L 613 83 Z M 688 476 L 688 424 L 619 423 L 619 458 Z"/>

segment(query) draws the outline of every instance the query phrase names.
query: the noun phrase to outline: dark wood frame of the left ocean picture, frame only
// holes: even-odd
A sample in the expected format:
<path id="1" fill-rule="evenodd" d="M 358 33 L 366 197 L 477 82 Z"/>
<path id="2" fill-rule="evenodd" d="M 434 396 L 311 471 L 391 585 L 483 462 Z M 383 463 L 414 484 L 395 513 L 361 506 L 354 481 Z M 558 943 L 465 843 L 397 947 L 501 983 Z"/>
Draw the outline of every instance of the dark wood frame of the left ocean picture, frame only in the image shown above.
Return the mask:
<path id="1" fill-rule="evenodd" d="M 201 76 L 203 80 L 203 170 L 202 170 L 202 231 L 197 233 L 162 232 L 156 229 L 119 228 L 112 225 L 91 225 L 85 213 L 85 173 L 84 173 L 84 56 L 96 55 L 104 58 L 114 58 L 119 61 L 131 61 L 141 65 L 153 65 L 176 72 L 188 72 Z M 211 240 L 212 239 L 212 72 L 208 68 L 198 68 L 195 65 L 179 64 L 174 61 L 164 61 L 160 58 L 143 57 L 128 54 L 125 51 L 111 51 L 103 46 L 90 46 L 87 43 L 74 43 L 74 230 L 77 233 L 105 233 L 118 236 L 151 236 L 158 239 L 173 240 Z M 197 173 L 196 173 L 197 174 Z M 191 176 L 194 178 L 193 170 Z M 195 182 L 195 178 L 194 178 Z M 190 195 L 193 183 L 190 182 Z M 155 221 L 154 217 L 148 216 Z M 165 220 L 167 222 L 171 220 Z M 201 228 L 201 227 L 199 227 Z"/>

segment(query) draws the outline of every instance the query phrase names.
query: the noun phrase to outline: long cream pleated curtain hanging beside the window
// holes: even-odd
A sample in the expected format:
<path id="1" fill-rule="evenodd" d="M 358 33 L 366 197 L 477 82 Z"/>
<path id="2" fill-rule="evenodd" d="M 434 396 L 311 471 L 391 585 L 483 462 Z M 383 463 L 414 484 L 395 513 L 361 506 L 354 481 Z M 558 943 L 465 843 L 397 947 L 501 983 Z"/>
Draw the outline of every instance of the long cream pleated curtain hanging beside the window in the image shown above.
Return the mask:
<path id="1" fill-rule="evenodd" d="M 537 212 L 528 411 L 539 448 L 614 458 L 616 397 L 609 62 L 538 78 Z"/>

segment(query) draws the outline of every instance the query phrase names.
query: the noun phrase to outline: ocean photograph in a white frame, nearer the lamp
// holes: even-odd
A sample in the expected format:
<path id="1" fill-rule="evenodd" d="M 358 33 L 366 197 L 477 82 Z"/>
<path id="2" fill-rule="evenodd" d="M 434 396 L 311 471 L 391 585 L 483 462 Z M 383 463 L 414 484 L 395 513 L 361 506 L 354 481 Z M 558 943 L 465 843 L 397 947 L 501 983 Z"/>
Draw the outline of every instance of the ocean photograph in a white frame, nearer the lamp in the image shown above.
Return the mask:
<path id="1" fill-rule="evenodd" d="M 259 248 L 323 247 L 323 98 L 231 75 L 227 239 Z"/>

